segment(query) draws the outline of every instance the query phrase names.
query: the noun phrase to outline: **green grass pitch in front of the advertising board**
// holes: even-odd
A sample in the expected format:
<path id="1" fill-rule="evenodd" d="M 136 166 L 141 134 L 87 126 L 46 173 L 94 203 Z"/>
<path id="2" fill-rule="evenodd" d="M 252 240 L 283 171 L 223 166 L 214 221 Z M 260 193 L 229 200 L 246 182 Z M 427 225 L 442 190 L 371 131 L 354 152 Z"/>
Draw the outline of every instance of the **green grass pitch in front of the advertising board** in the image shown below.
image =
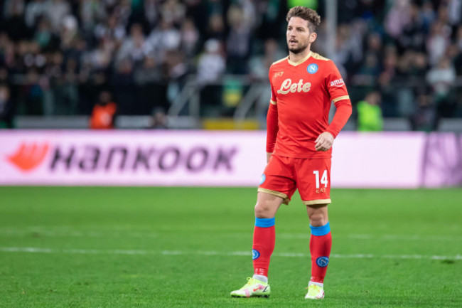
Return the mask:
<path id="1" fill-rule="evenodd" d="M 334 189 L 326 298 L 303 299 L 309 228 L 276 215 L 269 299 L 255 188 L 0 188 L 0 307 L 462 307 L 462 190 Z"/>

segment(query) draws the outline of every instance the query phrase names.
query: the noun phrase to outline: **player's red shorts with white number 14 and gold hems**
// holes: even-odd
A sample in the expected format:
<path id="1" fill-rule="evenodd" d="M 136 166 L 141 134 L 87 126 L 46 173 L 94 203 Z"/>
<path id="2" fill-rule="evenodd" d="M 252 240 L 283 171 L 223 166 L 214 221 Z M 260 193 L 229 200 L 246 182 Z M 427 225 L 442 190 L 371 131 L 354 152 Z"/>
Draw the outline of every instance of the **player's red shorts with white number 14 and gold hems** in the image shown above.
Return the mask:
<path id="1" fill-rule="evenodd" d="M 284 198 L 289 204 L 299 189 L 307 206 L 331 203 L 331 159 L 296 159 L 272 155 L 264 169 L 258 191 Z"/>

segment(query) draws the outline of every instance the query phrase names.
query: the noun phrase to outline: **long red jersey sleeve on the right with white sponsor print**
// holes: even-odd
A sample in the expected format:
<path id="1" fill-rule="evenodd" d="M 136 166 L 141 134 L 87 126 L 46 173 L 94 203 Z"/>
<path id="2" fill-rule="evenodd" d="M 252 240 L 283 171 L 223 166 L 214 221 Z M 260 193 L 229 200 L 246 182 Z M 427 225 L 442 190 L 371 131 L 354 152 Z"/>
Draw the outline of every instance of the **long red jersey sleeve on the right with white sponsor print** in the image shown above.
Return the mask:
<path id="1" fill-rule="evenodd" d="M 348 121 L 352 108 L 350 96 L 338 68 L 332 61 L 328 61 L 327 65 L 326 87 L 331 101 L 334 102 L 337 110 L 335 110 L 333 120 L 326 129 L 326 132 L 329 132 L 335 138 Z"/>

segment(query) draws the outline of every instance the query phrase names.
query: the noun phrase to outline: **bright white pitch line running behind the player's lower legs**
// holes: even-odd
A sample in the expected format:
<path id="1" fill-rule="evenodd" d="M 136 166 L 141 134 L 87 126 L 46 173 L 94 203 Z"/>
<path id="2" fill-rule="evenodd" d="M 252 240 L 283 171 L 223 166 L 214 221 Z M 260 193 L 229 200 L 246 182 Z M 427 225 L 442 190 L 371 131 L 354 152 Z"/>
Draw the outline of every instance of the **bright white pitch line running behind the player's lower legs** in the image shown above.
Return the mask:
<path id="1" fill-rule="evenodd" d="M 35 247 L 0 247 L 2 253 L 65 253 L 65 254 L 84 254 L 84 255 L 240 255 L 250 256 L 252 253 L 245 251 L 181 251 L 181 250 L 97 250 L 97 249 L 53 249 Z M 275 257 L 310 257 L 306 253 L 274 253 Z M 353 259 L 430 259 L 430 260 L 462 260 L 462 255 L 372 255 L 372 254 L 353 254 L 341 255 L 333 253 L 333 258 L 353 258 Z"/>

